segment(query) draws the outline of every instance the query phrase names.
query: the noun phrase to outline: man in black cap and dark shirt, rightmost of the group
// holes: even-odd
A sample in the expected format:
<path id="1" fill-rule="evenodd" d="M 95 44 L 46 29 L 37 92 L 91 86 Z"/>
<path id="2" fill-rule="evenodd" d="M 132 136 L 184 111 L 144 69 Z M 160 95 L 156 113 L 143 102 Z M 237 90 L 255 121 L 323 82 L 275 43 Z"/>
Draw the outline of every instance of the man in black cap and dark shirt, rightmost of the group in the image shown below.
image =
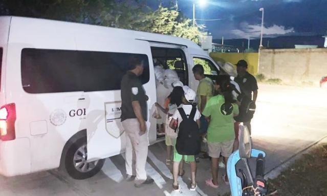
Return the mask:
<path id="1" fill-rule="evenodd" d="M 258 84 L 254 76 L 252 76 L 248 69 L 248 63 L 245 60 L 239 60 L 236 64 L 237 66 L 237 77 L 234 79 L 241 88 L 243 94 L 243 99 L 241 107 L 239 107 L 239 115 L 235 117 L 237 122 L 243 122 L 249 129 L 251 135 L 251 119 L 246 114 L 246 106 L 251 102 L 255 103 L 256 97 L 258 95 Z M 253 93 L 253 96 L 252 96 Z"/>

